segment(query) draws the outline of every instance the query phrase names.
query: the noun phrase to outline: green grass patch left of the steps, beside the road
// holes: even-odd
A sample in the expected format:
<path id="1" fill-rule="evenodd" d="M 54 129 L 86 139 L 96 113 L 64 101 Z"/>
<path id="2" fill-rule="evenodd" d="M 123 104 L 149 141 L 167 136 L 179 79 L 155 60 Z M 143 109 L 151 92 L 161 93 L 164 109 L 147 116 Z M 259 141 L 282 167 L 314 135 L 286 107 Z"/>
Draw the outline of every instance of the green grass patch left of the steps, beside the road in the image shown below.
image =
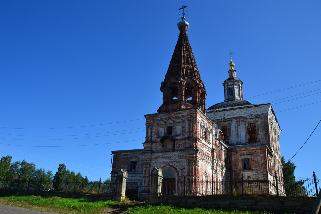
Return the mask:
<path id="1" fill-rule="evenodd" d="M 61 214 L 90 213 L 99 214 L 104 210 L 119 206 L 116 201 L 93 201 L 91 199 L 72 199 L 41 196 L 4 196 L 0 203 L 31 210 L 56 212 Z"/>

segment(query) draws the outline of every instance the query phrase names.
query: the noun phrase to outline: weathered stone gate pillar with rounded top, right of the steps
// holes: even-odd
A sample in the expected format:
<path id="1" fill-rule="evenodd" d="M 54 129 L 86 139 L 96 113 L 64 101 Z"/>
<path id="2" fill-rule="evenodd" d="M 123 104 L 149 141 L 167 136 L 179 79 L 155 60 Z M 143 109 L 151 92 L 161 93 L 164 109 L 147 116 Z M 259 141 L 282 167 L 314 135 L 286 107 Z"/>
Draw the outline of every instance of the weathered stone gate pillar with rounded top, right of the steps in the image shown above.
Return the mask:
<path id="1" fill-rule="evenodd" d="M 151 172 L 151 194 L 149 203 L 156 204 L 159 201 L 161 194 L 161 183 L 163 180 L 163 171 L 160 168 L 153 168 Z"/>

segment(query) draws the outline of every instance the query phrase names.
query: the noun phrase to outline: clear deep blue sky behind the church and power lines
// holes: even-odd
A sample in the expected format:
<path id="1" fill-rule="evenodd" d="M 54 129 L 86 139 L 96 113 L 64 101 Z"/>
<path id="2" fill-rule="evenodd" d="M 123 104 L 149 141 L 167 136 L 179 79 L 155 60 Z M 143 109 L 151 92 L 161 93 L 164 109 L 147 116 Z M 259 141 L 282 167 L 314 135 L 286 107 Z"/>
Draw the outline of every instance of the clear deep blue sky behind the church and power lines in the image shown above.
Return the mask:
<path id="1" fill-rule="evenodd" d="M 111 151 L 142 148 L 143 115 L 162 103 L 182 4 L 206 106 L 224 101 L 231 51 L 243 97 L 272 103 L 290 159 L 321 119 L 320 1 L 1 1 L 0 156 L 110 177 Z M 321 178 L 320 126 L 296 177 Z"/>

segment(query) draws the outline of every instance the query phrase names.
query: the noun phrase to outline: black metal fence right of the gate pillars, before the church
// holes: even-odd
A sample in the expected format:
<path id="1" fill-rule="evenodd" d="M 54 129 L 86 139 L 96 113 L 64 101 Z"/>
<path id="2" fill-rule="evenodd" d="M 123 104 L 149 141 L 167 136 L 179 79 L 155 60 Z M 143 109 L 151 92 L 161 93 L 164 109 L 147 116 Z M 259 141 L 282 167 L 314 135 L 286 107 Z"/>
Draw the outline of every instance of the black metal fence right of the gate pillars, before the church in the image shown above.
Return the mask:
<path id="1" fill-rule="evenodd" d="M 213 178 L 212 178 L 213 181 Z M 321 179 L 300 178 L 293 181 L 242 180 L 239 181 L 183 181 L 162 182 L 163 195 L 279 195 L 316 197 Z"/>

